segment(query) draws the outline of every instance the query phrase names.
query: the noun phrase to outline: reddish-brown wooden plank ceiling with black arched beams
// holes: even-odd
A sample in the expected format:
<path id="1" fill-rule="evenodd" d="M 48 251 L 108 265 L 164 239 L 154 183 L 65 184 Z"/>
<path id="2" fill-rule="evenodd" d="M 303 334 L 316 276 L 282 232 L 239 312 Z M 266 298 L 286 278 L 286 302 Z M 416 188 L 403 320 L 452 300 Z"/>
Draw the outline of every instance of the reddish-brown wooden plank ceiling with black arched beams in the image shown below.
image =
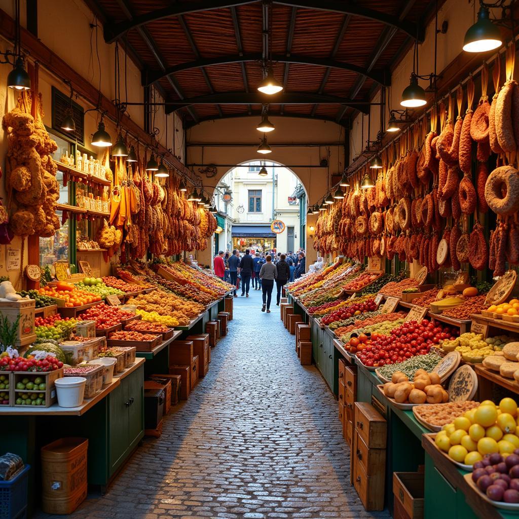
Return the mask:
<path id="1" fill-rule="evenodd" d="M 86 0 L 187 127 L 220 117 L 315 117 L 346 124 L 415 37 L 435 0 Z M 271 17 L 269 20 L 268 18 Z M 263 26 L 270 28 L 268 44 Z M 267 45 L 267 48 L 265 46 Z M 284 85 L 261 94 L 261 60 Z M 363 104 L 364 103 L 364 104 Z"/>

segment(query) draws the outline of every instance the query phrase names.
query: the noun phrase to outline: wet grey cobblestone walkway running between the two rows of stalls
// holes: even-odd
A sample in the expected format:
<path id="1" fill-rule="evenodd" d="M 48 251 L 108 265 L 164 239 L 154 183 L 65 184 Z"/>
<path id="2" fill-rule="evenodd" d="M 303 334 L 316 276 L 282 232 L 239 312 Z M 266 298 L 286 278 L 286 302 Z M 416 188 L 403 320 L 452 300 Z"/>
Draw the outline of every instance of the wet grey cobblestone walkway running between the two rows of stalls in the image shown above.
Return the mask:
<path id="1" fill-rule="evenodd" d="M 161 438 L 71 517 L 389 517 L 366 512 L 350 486 L 337 403 L 317 368 L 299 364 L 275 302 L 267 314 L 261 292 L 234 301 L 208 375 Z"/>

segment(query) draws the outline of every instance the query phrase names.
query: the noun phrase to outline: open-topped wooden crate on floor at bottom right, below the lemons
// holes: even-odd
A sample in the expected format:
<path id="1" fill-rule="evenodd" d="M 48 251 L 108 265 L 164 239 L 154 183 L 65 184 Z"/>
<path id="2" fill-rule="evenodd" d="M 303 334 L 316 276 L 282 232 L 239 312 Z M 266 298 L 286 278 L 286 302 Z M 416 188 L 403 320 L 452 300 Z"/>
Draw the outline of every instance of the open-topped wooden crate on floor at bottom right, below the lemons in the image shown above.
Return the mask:
<path id="1" fill-rule="evenodd" d="M 394 519 L 424 517 L 424 473 L 393 472 Z"/>

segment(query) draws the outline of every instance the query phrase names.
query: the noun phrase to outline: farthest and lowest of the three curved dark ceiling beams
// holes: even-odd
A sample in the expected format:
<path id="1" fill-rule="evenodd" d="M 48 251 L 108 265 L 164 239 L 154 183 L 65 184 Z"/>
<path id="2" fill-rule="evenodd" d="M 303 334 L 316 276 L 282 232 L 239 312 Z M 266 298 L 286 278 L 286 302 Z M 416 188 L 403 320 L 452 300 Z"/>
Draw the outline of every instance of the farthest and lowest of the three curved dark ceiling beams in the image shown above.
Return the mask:
<path id="1" fill-rule="evenodd" d="M 355 107 L 361 112 L 367 113 L 370 104 L 379 105 L 379 103 L 367 103 L 365 101 L 353 101 L 336 95 L 314 94 L 310 92 L 280 92 L 278 94 L 269 95 L 268 100 L 265 94 L 261 92 L 217 92 L 210 95 L 199 95 L 193 98 L 183 99 L 181 101 L 168 101 L 164 105 L 167 108 L 166 113 L 179 110 L 184 106 L 194 104 L 344 104 Z M 272 114 L 275 115 L 275 114 Z"/>

